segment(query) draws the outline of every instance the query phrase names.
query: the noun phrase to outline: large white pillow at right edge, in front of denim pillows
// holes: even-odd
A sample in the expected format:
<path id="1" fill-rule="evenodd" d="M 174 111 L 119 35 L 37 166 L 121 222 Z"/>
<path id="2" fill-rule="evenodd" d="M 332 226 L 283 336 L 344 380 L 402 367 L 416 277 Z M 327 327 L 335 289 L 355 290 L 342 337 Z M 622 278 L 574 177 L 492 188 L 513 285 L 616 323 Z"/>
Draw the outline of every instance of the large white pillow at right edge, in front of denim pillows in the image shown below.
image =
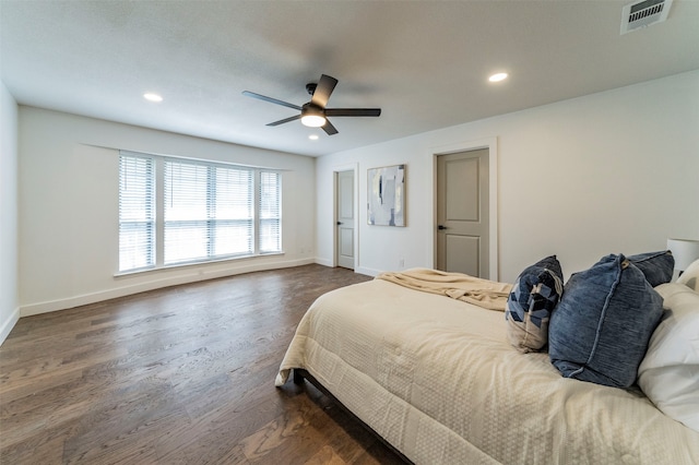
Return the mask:
<path id="1" fill-rule="evenodd" d="M 663 318 L 638 369 L 638 384 L 668 417 L 699 432 L 699 294 L 662 284 Z"/>

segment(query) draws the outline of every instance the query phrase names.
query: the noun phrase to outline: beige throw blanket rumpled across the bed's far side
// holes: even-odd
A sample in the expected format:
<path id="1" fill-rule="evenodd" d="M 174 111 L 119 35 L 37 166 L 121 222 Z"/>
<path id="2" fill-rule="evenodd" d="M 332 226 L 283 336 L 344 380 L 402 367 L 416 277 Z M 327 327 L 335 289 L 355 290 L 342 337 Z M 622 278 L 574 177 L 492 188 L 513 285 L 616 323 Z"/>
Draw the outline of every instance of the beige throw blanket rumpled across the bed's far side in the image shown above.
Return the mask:
<path id="1" fill-rule="evenodd" d="M 507 298 L 512 289 L 511 284 L 429 269 L 411 269 L 402 273 L 384 272 L 376 279 L 384 279 L 411 289 L 438 294 L 500 311 L 505 311 Z"/>

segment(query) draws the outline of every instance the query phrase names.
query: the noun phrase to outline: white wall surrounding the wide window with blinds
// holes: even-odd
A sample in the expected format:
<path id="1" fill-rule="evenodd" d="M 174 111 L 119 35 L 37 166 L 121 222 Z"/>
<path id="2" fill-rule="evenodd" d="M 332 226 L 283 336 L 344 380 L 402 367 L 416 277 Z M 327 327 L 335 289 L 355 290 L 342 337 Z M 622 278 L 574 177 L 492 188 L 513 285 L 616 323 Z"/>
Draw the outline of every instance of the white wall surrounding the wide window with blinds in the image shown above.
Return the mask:
<path id="1" fill-rule="evenodd" d="M 19 127 L 22 315 L 166 285 L 313 262 L 313 158 L 24 106 L 20 106 Z M 282 192 L 285 253 L 115 277 L 120 148 L 286 170 Z"/>

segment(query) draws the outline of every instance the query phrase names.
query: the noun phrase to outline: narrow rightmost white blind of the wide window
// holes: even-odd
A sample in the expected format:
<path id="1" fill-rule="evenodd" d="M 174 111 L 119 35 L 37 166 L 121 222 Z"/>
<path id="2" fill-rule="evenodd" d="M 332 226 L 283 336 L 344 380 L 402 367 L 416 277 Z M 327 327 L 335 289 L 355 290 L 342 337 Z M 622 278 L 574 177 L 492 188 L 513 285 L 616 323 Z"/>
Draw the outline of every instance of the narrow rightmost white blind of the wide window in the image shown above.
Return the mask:
<path id="1" fill-rule="evenodd" d="M 260 172 L 260 252 L 282 250 L 282 205 L 279 172 Z"/>

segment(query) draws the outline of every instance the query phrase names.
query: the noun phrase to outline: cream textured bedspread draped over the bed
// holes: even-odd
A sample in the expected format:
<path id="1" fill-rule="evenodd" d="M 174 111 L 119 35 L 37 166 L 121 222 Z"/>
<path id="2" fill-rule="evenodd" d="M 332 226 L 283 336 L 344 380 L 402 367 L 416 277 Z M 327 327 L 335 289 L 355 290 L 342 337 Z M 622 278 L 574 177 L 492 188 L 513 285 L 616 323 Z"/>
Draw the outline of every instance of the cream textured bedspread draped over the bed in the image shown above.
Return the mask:
<path id="1" fill-rule="evenodd" d="M 665 297 L 689 289 L 659 287 Z M 487 290 L 498 300 L 511 286 Z M 489 298 L 457 294 L 379 277 L 321 296 L 276 385 L 308 373 L 416 464 L 699 463 L 699 431 L 638 384 L 566 378 L 546 350 L 513 346 Z"/>

